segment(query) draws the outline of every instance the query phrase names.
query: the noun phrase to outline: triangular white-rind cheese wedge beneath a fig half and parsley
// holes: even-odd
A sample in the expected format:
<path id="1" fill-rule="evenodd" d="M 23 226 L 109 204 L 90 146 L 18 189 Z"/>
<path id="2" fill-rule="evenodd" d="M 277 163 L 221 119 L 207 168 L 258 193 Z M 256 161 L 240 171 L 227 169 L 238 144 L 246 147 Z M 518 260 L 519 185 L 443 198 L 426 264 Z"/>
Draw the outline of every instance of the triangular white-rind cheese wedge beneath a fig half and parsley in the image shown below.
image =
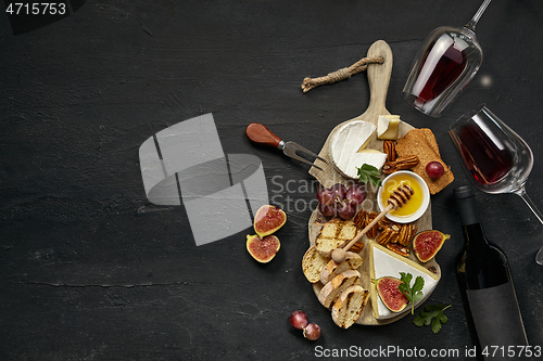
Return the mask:
<path id="1" fill-rule="evenodd" d="M 413 281 L 420 275 L 425 279 L 425 286 L 422 288 L 424 298 L 418 300 L 415 306 L 422 302 L 426 296 L 431 294 L 438 285 L 438 275 L 428 271 L 419 263 L 396 255 L 393 252 L 378 245 L 370 241 L 369 243 L 369 273 L 371 280 L 378 280 L 382 276 L 393 276 L 400 279 L 400 272 L 413 274 Z M 390 319 L 403 312 L 409 312 L 411 304 L 402 312 L 392 312 L 384 306 L 381 298 L 377 293 L 377 287 L 374 283 L 370 284 L 371 308 L 374 317 L 378 320 Z"/>

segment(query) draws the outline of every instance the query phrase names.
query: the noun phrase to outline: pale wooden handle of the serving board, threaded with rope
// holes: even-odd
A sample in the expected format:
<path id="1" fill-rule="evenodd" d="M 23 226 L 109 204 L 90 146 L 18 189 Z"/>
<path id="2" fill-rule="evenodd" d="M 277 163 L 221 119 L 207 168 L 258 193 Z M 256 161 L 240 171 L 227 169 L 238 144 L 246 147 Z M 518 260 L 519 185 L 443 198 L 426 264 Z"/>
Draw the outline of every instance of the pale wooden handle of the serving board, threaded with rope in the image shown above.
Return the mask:
<path id="1" fill-rule="evenodd" d="M 392 74 L 392 50 L 383 40 L 378 40 L 368 49 L 368 57 L 380 56 L 382 64 L 369 64 L 369 105 L 365 115 L 371 115 L 367 120 L 377 125 L 377 118 L 381 114 L 390 114 L 387 111 L 387 92 L 389 90 L 390 76 Z"/>

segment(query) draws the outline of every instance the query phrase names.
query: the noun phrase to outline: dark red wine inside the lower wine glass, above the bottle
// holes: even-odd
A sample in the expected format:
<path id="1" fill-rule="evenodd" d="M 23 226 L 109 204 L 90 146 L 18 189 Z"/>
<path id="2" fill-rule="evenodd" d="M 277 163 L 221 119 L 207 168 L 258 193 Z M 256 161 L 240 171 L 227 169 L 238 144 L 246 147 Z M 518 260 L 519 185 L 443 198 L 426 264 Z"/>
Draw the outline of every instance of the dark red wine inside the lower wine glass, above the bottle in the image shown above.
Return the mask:
<path id="1" fill-rule="evenodd" d="M 482 186 L 494 184 L 513 168 L 514 156 L 498 139 L 485 134 L 475 125 L 465 125 L 458 131 L 460 152 L 468 170 Z"/>

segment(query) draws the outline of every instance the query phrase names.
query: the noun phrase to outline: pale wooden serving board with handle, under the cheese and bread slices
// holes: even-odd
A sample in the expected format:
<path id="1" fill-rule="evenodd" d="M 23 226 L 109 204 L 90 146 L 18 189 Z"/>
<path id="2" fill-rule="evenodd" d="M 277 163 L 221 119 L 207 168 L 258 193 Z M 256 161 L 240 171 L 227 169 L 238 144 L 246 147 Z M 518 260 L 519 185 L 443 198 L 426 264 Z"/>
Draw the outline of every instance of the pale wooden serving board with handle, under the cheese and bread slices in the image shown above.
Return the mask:
<path id="1" fill-rule="evenodd" d="M 382 64 L 370 64 L 368 65 L 367 68 L 367 75 L 368 75 L 368 83 L 369 83 L 369 91 L 370 91 L 370 96 L 369 96 L 369 105 L 362 114 L 361 116 L 353 118 L 351 120 L 343 121 L 339 124 L 336 128 L 332 129 L 330 134 L 328 136 L 325 145 L 320 150 L 319 156 L 323 158 L 327 159 L 328 163 L 325 163 L 323 160 L 317 159 L 315 164 L 317 166 L 320 166 L 323 170 L 319 170 L 315 167 L 312 167 L 310 169 L 310 175 L 315 177 L 320 184 L 324 186 L 331 186 L 336 183 L 343 183 L 345 186 L 349 188 L 350 184 L 353 184 L 352 179 L 346 179 L 341 176 L 340 172 L 336 169 L 333 166 L 330 155 L 328 153 L 329 149 L 329 143 L 330 139 L 333 136 L 333 133 L 344 124 L 354 121 L 354 120 L 364 120 L 371 123 L 377 126 L 377 119 L 379 118 L 379 115 L 387 115 L 390 114 L 390 112 L 386 107 L 386 100 L 387 100 L 387 92 L 389 89 L 389 82 L 390 82 L 390 76 L 392 74 L 392 50 L 390 49 L 389 44 L 383 41 L 383 40 L 378 40 L 368 50 L 367 53 L 368 57 L 372 56 L 381 56 L 384 62 Z M 402 121 L 400 124 L 400 137 L 405 136 L 407 131 L 411 129 L 414 129 L 411 125 Z M 374 136 L 374 139 L 369 142 L 368 149 L 375 149 L 382 151 L 382 143 L 383 141 L 377 139 L 377 137 Z M 379 212 L 377 202 L 375 199 L 377 198 L 377 192 L 378 189 L 372 188 L 371 185 L 368 184 L 368 194 L 366 199 L 374 201 L 374 202 L 365 202 L 364 207 L 366 210 L 374 210 Z M 372 204 L 372 206 L 371 206 Z M 369 208 L 371 206 L 371 208 Z M 367 207 L 367 208 L 366 208 Z M 310 235 L 310 247 L 315 244 L 315 238 L 317 237 L 320 229 L 323 228 L 323 221 L 326 221 L 326 219 L 320 215 L 318 209 L 314 210 L 312 216 L 310 217 L 308 221 L 308 235 Z M 425 231 L 425 230 L 431 230 L 432 229 L 432 218 L 431 218 L 431 203 L 428 205 L 428 209 L 426 212 L 422 215 L 421 218 L 419 218 L 415 224 L 417 224 L 418 231 Z M 370 273 L 369 273 L 369 245 L 368 242 L 369 240 L 366 236 L 363 236 L 363 241 L 365 244 L 364 249 L 361 252 L 361 256 L 363 259 L 363 263 L 358 271 L 361 272 L 362 275 L 362 286 L 365 289 L 370 289 L 372 286 L 370 284 Z M 427 269 L 432 269 L 434 273 L 438 275 L 438 280 L 441 279 L 441 269 L 439 265 L 435 262 L 434 259 L 421 263 L 418 261 L 418 259 L 413 255 L 413 253 L 409 255 L 409 259 L 414 260 L 415 262 L 424 266 Z M 393 276 L 397 276 L 394 274 L 391 274 Z M 323 288 L 323 284 L 320 282 L 316 283 L 313 285 L 315 294 L 318 296 L 320 293 L 320 289 Z M 424 300 L 426 300 L 430 296 L 430 293 L 425 295 Z M 424 301 L 422 300 L 422 301 Z M 421 305 L 420 302 L 419 305 Z M 397 321 L 399 319 L 403 318 L 409 313 L 409 309 L 404 310 L 403 312 L 399 313 L 396 317 L 387 319 L 387 320 L 377 320 L 372 315 L 372 309 L 371 309 L 371 301 L 368 301 L 366 304 L 366 307 L 364 308 L 363 313 L 356 321 L 358 324 L 365 324 L 365 325 L 382 325 L 382 324 L 388 324 L 394 321 Z"/>

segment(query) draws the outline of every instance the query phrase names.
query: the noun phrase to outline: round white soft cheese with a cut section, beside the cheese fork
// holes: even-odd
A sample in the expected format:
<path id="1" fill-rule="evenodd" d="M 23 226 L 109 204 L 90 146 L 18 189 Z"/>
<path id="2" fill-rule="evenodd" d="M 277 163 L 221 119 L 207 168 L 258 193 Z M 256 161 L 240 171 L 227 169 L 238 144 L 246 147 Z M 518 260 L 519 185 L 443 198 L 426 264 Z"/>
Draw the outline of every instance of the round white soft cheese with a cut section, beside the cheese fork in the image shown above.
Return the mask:
<path id="1" fill-rule="evenodd" d="M 357 179 L 364 164 L 381 169 L 387 154 L 366 149 L 377 127 L 370 123 L 355 120 L 342 126 L 330 140 L 329 154 L 332 164 L 343 177 Z"/>

